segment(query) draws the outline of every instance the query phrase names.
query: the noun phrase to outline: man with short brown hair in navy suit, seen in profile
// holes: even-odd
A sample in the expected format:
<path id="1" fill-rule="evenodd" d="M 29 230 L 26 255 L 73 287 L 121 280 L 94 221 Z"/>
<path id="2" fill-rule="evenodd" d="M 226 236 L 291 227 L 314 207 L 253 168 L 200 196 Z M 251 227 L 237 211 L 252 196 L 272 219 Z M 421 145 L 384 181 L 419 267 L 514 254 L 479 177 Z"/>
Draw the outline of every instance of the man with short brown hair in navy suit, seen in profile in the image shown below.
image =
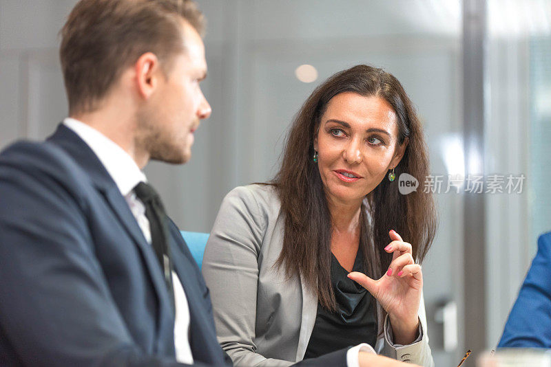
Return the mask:
<path id="1" fill-rule="evenodd" d="M 187 162 L 211 113 L 201 30 L 190 0 L 72 10 L 60 50 L 70 118 L 0 154 L 1 366 L 229 364 L 200 271 L 141 171 Z M 347 354 L 358 362 L 340 351 L 303 364 Z"/>

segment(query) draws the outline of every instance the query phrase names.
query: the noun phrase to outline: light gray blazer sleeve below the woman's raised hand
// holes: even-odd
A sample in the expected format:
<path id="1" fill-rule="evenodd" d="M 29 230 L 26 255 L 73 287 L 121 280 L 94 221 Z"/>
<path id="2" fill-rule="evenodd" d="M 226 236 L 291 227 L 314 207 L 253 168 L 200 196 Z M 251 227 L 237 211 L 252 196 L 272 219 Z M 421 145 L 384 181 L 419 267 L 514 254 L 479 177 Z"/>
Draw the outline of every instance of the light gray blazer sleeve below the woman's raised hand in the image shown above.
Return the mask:
<path id="1" fill-rule="evenodd" d="M 424 297 L 419 304 L 419 337 L 408 345 L 394 344 L 392 326 L 388 315 L 384 319 L 383 336 L 377 340 L 377 353 L 397 359 L 402 362 L 417 364 L 424 367 L 434 367 L 433 354 L 428 345 L 428 330 Z"/>

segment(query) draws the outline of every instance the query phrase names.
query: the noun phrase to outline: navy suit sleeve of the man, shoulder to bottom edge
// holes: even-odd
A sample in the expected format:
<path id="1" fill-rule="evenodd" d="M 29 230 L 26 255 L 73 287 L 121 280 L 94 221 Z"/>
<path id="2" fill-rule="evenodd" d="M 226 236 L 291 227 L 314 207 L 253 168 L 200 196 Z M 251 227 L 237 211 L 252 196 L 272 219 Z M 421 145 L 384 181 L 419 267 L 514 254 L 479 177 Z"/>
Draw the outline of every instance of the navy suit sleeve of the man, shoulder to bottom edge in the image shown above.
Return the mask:
<path id="1" fill-rule="evenodd" d="M 38 144 L 0 155 L 0 346 L 11 347 L 1 357 L 8 366 L 182 366 L 132 340 L 84 203 L 67 190 L 79 168 L 66 161 Z"/>

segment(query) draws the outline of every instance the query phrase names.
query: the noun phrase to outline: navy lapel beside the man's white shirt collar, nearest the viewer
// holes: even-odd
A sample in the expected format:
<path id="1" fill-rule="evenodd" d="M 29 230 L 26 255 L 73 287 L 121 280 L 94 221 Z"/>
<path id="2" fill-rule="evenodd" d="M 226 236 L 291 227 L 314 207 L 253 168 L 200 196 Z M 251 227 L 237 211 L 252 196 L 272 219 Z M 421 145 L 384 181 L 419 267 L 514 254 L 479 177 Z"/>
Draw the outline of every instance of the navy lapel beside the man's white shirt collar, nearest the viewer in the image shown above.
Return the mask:
<path id="1" fill-rule="evenodd" d="M 103 164 L 96 157 L 94 151 L 81 140 L 79 135 L 76 135 L 76 133 L 63 124 L 58 126 L 55 133 L 48 138 L 48 141 L 61 146 L 89 175 L 94 186 L 101 192 L 105 201 L 110 205 L 110 208 L 140 250 L 156 290 L 159 310 L 171 315 L 169 294 L 154 250 L 145 240 L 143 232 L 136 222 L 134 215 L 132 215 L 128 203 L 118 190 L 116 183 L 109 173 L 107 173 L 107 170 L 105 170 Z"/>

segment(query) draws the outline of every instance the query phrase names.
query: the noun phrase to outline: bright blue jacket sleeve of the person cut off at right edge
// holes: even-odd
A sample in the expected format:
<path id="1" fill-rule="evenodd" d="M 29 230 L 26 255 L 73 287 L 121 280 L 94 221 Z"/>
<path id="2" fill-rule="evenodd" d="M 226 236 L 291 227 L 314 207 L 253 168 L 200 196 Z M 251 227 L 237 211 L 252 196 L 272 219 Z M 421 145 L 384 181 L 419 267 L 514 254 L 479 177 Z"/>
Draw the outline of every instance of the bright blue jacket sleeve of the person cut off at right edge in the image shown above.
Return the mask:
<path id="1" fill-rule="evenodd" d="M 551 348 L 551 232 L 539 237 L 498 347 Z"/>

